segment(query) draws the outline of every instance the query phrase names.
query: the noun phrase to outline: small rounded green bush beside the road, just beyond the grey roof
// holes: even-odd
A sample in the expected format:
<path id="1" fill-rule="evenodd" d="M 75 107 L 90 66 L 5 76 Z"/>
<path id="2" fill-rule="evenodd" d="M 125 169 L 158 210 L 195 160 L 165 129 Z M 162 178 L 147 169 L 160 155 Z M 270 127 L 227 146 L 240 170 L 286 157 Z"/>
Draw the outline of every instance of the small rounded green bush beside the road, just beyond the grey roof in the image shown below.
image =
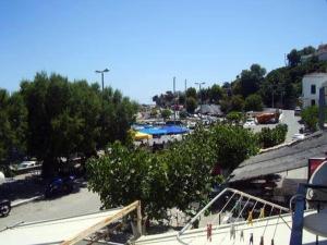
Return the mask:
<path id="1" fill-rule="evenodd" d="M 259 145 L 263 148 L 272 147 L 284 142 L 286 135 L 288 133 L 287 124 L 279 124 L 275 128 L 264 127 L 257 134 Z"/>

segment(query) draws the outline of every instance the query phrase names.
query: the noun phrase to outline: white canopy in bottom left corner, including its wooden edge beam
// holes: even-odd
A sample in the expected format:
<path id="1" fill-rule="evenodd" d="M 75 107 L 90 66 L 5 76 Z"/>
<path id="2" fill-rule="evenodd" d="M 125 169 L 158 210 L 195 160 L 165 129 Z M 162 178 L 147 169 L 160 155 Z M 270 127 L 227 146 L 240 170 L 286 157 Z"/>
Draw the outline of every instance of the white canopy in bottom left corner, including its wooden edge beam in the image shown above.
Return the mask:
<path id="1" fill-rule="evenodd" d="M 0 231 L 0 241 L 9 245 L 75 244 L 134 210 L 138 201 L 96 213 L 24 223 Z"/>

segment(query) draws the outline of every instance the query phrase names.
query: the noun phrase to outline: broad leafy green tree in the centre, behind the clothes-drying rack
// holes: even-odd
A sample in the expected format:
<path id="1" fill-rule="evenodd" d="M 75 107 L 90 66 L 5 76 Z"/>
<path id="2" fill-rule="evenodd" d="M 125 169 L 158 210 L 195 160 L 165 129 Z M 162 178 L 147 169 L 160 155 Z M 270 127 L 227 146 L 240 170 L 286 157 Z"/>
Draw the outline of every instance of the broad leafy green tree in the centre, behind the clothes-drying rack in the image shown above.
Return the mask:
<path id="1" fill-rule="evenodd" d="M 189 213 L 194 201 L 202 207 L 217 181 L 210 174 L 217 162 L 232 169 L 256 152 L 250 131 L 228 125 L 196 127 L 182 142 L 155 154 L 114 143 L 110 154 L 88 160 L 88 186 L 107 208 L 141 199 L 149 219 L 162 219 L 169 208 Z"/>

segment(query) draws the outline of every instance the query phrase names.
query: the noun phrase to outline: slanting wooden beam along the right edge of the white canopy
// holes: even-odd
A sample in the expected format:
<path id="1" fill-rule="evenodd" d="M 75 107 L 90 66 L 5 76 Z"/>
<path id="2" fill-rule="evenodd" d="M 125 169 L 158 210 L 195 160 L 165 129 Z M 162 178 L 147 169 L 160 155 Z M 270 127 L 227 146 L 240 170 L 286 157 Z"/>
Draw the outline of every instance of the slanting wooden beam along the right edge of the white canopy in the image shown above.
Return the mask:
<path id="1" fill-rule="evenodd" d="M 107 226 L 109 223 L 112 223 L 112 222 L 121 219 L 122 217 L 126 216 L 131 211 L 137 209 L 140 204 L 141 204 L 140 200 L 136 200 L 136 201 L 130 204 L 129 206 L 122 208 L 120 211 L 118 211 L 113 216 L 105 218 L 104 220 L 92 225 L 90 228 L 86 229 L 85 231 L 80 232 L 76 236 L 72 237 L 71 240 L 64 241 L 63 243 L 61 243 L 61 245 L 72 245 L 72 244 L 75 244 L 75 243 L 82 241 L 83 238 L 87 237 L 88 235 L 95 233 L 96 231 Z"/>

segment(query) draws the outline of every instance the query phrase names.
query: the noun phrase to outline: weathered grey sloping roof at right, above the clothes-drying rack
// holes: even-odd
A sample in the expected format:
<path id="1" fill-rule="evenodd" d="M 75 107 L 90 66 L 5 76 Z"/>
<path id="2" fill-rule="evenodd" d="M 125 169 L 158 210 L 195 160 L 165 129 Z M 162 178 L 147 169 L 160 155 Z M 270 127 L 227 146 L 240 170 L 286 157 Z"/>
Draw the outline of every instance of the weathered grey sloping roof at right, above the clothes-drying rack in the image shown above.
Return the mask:
<path id="1" fill-rule="evenodd" d="M 326 157 L 326 151 L 327 132 L 318 132 L 303 140 L 251 157 L 230 174 L 229 182 L 306 167 L 310 158 Z"/>

